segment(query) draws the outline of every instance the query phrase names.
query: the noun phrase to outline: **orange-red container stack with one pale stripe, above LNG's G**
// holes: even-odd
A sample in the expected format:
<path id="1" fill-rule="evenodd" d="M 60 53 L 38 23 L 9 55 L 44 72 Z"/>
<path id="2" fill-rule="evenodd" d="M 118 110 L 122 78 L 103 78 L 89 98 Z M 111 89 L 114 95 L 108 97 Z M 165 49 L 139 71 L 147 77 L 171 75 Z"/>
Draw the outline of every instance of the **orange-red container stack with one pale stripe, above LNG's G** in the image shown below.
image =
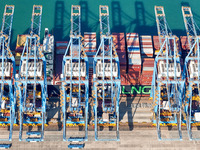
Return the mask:
<path id="1" fill-rule="evenodd" d="M 140 84 L 151 85 L 154 71 L 154 58 L 143 58 L 143 67 Z"/>

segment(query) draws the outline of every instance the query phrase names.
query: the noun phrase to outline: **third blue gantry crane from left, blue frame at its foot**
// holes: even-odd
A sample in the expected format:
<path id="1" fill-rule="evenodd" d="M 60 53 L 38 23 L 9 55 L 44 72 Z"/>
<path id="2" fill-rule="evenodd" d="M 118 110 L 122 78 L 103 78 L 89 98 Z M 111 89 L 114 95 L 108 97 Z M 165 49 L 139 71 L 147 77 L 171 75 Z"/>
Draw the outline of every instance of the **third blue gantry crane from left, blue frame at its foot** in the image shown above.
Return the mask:
<path id="1" fill-rule="evenodd" d="M 69 137 L 69 148 L 83 148 L 88 139 L 89 64 L 81 36 L 81 8 L 71 7 L 70 41 L 63 56 L 61 74 L 61 104 L 63 113 L 63 140 L 66 141 L 66 126 L 84 126 L 83 137 Z M 81 142 L 73 144 L 72 142 Z"/>

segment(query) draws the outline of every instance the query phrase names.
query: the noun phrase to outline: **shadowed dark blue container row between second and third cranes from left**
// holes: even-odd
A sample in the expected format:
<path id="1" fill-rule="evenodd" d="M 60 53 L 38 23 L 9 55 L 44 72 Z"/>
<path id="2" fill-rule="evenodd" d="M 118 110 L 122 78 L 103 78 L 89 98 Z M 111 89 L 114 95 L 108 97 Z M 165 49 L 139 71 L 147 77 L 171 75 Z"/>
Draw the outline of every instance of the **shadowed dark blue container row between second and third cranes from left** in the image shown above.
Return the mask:
<path id="1" fill-rule="evenodd" d="M 65 51 L 67 49 L 67 41 L 56 42 L 56 57 L 55 57 L 55 74 L 54 74 L 54 85 L 60 85 L 60 75 L 62 74 L 62 61 Z"/>

